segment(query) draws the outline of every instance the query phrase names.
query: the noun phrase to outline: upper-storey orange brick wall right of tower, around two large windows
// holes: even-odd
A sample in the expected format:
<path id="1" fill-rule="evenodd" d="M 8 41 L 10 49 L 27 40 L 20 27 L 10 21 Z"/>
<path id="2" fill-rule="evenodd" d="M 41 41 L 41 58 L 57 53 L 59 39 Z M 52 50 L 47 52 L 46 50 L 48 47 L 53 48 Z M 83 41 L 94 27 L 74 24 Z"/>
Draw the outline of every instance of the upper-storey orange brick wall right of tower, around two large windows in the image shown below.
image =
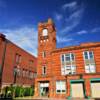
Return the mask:
<path id="1" fill-rule="evenodd" d="M 87 43 L 88 45 L 88 43 Z M 63 48 L 59 50 L 55 50 L 52 53 L 52 66 L 54 76 L 61 76 L 61 55 L 67 54 L 67 53 L 74 53 L 75 54 L 75 64 L 76 64 L 76 74 L 85 74 L 85 65 L 84 65 L 84 58 L 83 58 L 83 52 L 84 51 L 93 51 L 94 53 L 94 60 L 96 64 L 96 73 L 100 73 L 100 43 L 88 45 L 86 46 L 79 46 L 79 48 L 75 49 L 73 46 L 73 49 L 66 48 L 63 50 Z"/>

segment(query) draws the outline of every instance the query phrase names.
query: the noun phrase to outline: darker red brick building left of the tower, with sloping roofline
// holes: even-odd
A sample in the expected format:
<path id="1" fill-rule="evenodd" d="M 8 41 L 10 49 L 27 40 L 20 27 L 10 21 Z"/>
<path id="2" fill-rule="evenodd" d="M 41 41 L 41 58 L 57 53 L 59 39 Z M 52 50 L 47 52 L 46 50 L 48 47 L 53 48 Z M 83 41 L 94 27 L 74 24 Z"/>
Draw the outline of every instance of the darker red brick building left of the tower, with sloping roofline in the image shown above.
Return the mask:
<path id="1" fill-rule="evenodd" d="M 37 58 L 0 34 L 0 83 L 31 86 L 34 84 Z"/>

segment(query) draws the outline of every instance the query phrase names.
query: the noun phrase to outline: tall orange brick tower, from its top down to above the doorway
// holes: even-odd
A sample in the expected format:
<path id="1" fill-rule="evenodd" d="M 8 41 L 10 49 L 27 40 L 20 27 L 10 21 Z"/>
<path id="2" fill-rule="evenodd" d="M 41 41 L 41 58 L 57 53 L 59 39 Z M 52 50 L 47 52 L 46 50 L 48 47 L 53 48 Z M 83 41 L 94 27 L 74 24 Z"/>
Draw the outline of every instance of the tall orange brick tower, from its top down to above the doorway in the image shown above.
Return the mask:
<path id="1" fill-rule="evenodd" d="M 52 19 L 38 24 L 38 68 L 39 76 L 51 75 L 51 52 L 56 49 L 56 30 Z"/>

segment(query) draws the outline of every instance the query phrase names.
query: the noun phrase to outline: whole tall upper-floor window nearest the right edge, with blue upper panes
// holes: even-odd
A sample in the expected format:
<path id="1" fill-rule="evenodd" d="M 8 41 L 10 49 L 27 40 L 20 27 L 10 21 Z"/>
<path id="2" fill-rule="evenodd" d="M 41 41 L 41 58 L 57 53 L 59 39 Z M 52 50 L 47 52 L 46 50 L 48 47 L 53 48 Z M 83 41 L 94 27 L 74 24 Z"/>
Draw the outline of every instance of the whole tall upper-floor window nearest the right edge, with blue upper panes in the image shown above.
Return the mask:
<path id="1" fill-rule="evenodd" d="M 95 61 L 93 51 L 84 51 L 84 63 L 86 73 L 95 73 Z"/>

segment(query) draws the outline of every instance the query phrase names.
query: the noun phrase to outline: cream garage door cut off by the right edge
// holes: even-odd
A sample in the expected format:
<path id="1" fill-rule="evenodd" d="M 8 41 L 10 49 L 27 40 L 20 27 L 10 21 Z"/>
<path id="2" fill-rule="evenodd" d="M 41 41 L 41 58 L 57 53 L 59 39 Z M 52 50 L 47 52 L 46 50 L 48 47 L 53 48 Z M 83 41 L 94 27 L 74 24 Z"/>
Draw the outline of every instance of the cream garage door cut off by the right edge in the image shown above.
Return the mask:
<path id="1" fill-rule="evenodd" d="M 100 81 L 91 82 L 91 96 L 93 98 L 100 98 Z"/>

